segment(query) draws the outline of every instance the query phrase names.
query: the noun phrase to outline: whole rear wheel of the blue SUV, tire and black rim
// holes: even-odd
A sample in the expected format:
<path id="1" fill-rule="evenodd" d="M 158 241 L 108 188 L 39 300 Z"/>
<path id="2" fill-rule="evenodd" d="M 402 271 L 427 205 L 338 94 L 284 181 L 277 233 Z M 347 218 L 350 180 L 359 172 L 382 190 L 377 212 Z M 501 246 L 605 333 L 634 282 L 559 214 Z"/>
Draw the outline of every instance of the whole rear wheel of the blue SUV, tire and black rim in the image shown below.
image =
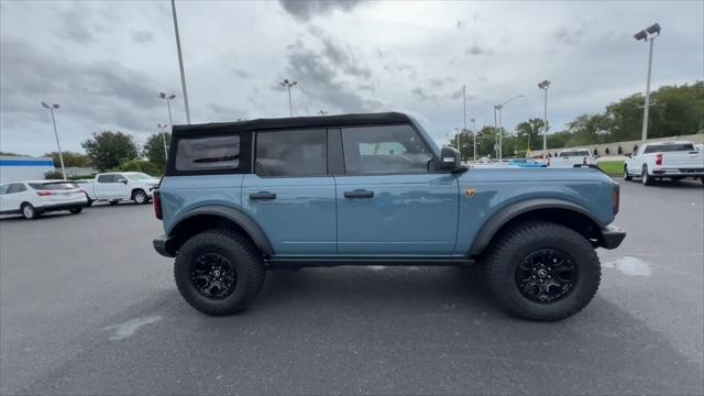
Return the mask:
<path id="1" fill-rule="evenodd" d="M 174 277 L 186 302 L 207 315 L 244 310 L 264 284 L 262 255 L 232 230 L 201 232 L 184 243 Z"/>

